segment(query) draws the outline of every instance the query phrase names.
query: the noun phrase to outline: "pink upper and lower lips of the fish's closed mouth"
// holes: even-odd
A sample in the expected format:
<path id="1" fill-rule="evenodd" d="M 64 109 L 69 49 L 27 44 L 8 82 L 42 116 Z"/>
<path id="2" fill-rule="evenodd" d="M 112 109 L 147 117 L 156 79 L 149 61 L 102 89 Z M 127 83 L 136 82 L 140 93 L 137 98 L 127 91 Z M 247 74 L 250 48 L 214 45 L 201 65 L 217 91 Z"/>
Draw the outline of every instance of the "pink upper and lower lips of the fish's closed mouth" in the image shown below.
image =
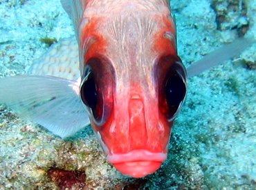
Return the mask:
<path id="1" fill-rule="evenodd" d="M 107 156 L 107 160 L 118 171 L 134 178 L 143 178 L 154 173 L 166 158 L 166 153 L 153 153 L 143 149 Z"/>

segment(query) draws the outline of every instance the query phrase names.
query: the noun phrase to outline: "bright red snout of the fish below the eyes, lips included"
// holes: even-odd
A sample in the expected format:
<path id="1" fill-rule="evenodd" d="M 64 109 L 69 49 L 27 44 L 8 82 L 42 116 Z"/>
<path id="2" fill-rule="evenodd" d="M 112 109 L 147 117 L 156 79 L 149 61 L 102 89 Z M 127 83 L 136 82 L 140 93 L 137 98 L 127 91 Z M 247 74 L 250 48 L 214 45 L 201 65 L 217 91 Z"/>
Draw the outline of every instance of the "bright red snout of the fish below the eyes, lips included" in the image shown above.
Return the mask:
<path id="1" fill-rule="evenodd" d="M 104 126 L 93 127 L 107 160 L 133 178 L 154 173 L 167 158 L 172 123 L 159 116 L 154 100 L 131 93 L 128 99 L 120 98 Z"/>

